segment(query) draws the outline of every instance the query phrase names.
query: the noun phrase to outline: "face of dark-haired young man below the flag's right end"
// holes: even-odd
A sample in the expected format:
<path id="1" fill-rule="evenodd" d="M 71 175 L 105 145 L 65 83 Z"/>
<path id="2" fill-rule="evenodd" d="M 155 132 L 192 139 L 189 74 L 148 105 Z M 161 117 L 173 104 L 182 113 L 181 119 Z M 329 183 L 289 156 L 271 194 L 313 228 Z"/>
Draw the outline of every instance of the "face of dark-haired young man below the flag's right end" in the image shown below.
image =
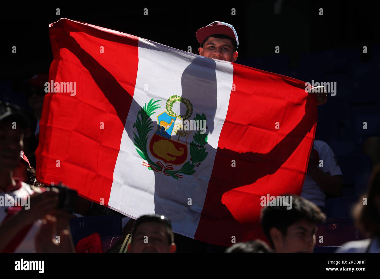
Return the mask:
<path id="1" fill-rule="evenodd" d="M 276 241 L 273 241 L 275 251 L 277 253 L 312 253 L 316 231 L 317 227 L 315 224 L 305 220 L 298 221 L 288 227 L 286 235 L 282 235 L 277 230 L 279 237 Z"/>

